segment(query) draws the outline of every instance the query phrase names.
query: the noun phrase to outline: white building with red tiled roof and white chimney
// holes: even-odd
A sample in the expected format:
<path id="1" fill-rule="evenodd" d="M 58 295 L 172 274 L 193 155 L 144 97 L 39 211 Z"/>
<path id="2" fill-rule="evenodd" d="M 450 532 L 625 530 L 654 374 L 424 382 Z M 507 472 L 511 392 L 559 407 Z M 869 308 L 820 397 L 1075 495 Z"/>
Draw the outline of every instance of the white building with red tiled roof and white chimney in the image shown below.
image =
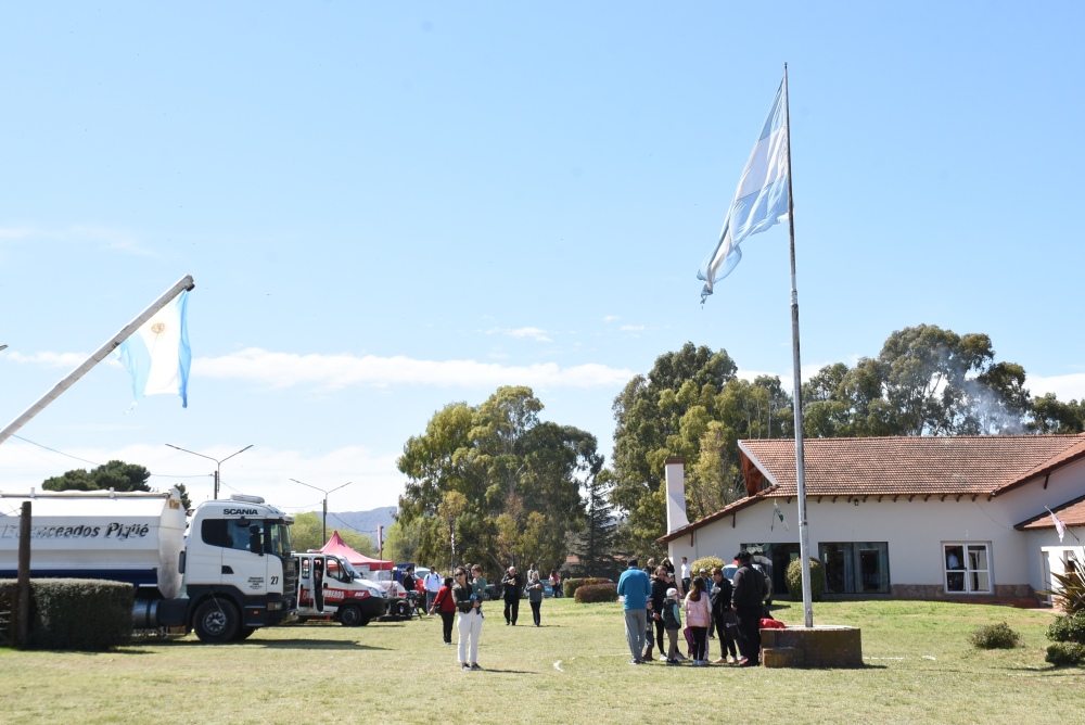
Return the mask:
<path id="1" fill-rule="evenodd" d="M 667 460 L 660 542 L 673 561 L 760 550 L 782 594 L 799 557 L 795 443 L 739 450 L 746 497 L 692 523 L 681 460 Z M 829 596 L 1034 600 L 1051 571 L 1085 562 L 1085 435 L 815 438 L 804 451 L 809 554 Z"/>

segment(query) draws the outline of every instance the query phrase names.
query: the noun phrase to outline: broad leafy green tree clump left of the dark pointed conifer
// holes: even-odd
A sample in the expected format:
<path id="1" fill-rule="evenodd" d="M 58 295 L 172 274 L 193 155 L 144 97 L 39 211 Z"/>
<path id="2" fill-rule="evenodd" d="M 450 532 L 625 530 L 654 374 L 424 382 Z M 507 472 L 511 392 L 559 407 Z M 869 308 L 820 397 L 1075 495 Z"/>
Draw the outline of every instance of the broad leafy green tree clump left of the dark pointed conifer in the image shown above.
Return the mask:
<path id="1" fill-rule="evenodd" d="M 418 556 L 492 569 L 561 564 L 584 523 L 583 481 L 602 457 L 591 434 L 539 419 L 529 387 L 499 387 L 478 406 L 452 403 L 404 445 L 400 525 L 420 525 Z"/>

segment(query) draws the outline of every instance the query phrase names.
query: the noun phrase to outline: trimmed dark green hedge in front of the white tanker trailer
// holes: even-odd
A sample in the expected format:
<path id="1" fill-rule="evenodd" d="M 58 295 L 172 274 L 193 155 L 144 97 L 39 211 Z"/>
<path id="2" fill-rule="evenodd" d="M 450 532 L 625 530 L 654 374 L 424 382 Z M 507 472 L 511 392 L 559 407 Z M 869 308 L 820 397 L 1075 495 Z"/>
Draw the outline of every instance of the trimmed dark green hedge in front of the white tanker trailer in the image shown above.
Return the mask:
<path id="1" fill-rule="evenodd" d="M 0 581 L 14 592 L 15 582 Z M 132 635 L 131 584 L 85 578 L 30 580 L 33 649 L 98 651 L 127 643 Z"/>

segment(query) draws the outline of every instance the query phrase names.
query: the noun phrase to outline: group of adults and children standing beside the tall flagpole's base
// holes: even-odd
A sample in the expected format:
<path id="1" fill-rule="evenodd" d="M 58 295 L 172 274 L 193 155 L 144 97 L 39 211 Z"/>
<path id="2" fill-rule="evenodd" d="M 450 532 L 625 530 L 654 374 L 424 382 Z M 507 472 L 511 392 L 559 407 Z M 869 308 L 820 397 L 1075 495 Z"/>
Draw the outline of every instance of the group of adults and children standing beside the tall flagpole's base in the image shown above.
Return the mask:
<path id="1" fill-rule="evenodd" d="M 694 666 L 707 665 L 707 640 L 710 632 L 715 631 L 720 654 L 711 664 L 761 664 L 761 620 L 765 614 L 767 583 L 765 575 L 752 565 L 749 551 L 735 555 L 735 562 L 738 571 L 732 581 L 728 581 L 718 567 L 712 570 L 711 578 L 705 576 L 704 570 L 694 577 L 689 575 L 691 572 L 682 557 L 685 581 L 679 589 L 669 560 L 665 559 L 660 567 L 649 560 L 649 565 L 640 569 L 636 559 L 629 559 L 629 568 L 617 584 L 617 593 L 623 598 L 626 641 L 633 654 L 629 663 L 652 661 L 654 645 L 659 647 L 660 659 L 668 665 L 680 664 L 686 659 Z M 685 629 L 682 614 L 686 616 Z M 679 632 L 686 633 L 688 657 L 678 650 Z M 665 654 L 664 635 L 668 641 Z"/>

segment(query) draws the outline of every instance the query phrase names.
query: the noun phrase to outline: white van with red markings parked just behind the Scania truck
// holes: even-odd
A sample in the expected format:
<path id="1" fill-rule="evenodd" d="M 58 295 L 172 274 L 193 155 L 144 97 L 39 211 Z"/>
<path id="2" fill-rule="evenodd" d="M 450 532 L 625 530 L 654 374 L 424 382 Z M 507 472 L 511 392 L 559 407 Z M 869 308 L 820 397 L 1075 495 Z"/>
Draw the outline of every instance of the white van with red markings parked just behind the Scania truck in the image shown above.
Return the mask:
<path id="1" fill-rule="evenodd" d="M 331 619 L 366 626 L 388 613 L 388 593 L 361 577 L 349 561 L 332 554 L 295 554 L 298 569 L 297 619 Z"/>

